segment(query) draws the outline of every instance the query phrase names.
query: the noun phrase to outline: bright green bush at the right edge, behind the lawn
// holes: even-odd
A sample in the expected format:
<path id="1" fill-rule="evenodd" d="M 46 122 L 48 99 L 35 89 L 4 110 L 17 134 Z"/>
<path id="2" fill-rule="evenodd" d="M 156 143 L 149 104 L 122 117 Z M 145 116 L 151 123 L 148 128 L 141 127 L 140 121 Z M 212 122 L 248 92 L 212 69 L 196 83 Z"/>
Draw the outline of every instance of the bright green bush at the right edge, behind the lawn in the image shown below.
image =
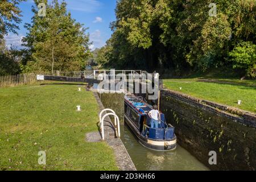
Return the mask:
<path id="1" fill-rule="evenodd" d="M 242 68 L 246 71 L 247 77 L 256 76 L 256 45 L 252 42 L 238 43 L 229 52 L 230 61 L 233 61 L 233 68 Z"/>

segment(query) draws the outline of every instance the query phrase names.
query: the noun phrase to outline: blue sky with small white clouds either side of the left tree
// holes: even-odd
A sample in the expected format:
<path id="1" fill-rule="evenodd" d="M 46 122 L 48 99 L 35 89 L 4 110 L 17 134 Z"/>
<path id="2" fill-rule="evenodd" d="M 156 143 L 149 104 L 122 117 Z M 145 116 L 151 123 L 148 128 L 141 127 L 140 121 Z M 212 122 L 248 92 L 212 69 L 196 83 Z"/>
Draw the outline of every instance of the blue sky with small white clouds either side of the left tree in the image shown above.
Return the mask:
<path id="1" fill-rule="evenodd" d="M 106 40 L 112 34 L 109 24 L 115 20 L 116 0 L 65 0 L 65 2 L 68 4 L 67 8 L 71 12 L 72 18 L 84 24 L 84 27 L 89 28 L 86 32 L 89 32 L 90 41 L 93 42 L 90 48 L 95 49 L 104 46 Z M 19 24 L 19 35 L 10 33 L 5 36 L 8 47 L 11 44 L 20 47 L 21 39 L 27 32 L 26 28 L 24 28 L 24 23 L 30 23 L 33 16 L 32 5 L 34 5 L 32 0 L 20 3 L 19 7 L 23 16 L 22 23 Z"/>

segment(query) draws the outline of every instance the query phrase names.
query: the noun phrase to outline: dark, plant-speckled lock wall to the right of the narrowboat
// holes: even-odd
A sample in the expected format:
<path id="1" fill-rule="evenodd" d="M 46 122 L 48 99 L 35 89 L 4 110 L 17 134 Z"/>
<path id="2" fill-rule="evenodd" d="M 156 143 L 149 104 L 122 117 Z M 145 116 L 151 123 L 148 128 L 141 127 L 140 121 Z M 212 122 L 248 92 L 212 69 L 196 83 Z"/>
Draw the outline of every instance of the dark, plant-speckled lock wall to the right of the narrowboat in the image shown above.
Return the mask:
<path id="1" fill-rule="evenodd" d="M 168 89 L 160 108 L 175 126 L 178 143 L 213 170 L 256 169 L 256 115 Z M 217 152 L 210 165 L 209 152 Z"/>

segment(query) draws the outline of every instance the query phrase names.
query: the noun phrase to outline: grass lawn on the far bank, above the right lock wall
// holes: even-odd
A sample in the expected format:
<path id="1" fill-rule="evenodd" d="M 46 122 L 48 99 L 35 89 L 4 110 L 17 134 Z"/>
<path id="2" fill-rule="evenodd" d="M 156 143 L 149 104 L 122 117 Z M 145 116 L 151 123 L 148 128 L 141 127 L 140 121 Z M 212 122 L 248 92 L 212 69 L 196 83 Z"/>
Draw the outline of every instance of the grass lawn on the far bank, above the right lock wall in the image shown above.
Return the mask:
<path id="1" fill-rule="evenodd" d="M 256 113 L 256 80 L 219 79 L 215 81 L 217 82 L 201 82 L 199 78 L 166 79 L 164 86 L 197 98 Z M 238 100 L 242 101 L 241 105 L 237 104 Z"/>

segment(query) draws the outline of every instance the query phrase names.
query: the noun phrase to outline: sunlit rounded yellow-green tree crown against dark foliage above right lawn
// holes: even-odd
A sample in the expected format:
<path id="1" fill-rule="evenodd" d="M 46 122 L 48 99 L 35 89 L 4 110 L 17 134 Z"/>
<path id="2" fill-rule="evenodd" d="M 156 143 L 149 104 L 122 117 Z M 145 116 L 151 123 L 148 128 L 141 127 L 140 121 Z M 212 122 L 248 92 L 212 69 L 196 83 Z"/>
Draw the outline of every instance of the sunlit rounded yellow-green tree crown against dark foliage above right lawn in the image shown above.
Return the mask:
<path id="1" fill-rule="evenodd" d="M 225 55 L 227 43 L 232 30 L 227 16 L 219 13 L 217 17 L 209 17 L 201 28 L 201 34 L 193 40 L 193 46 L 186 55 L 188 63 L 197 64 L 203 70 L 216 66 L 218 60 Z"/>

